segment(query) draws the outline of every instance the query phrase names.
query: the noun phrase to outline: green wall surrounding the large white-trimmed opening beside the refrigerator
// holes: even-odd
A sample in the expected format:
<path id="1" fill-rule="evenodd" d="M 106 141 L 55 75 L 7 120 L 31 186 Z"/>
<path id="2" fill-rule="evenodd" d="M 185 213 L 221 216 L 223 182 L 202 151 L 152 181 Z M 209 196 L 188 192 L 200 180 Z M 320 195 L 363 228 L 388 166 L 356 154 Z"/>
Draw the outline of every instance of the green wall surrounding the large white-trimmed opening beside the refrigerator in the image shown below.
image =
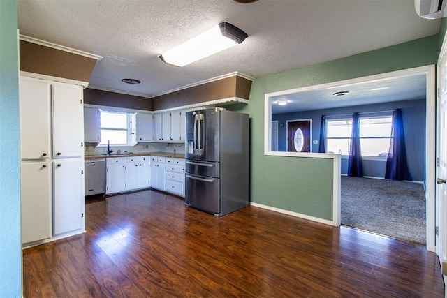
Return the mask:
<path id="1" fill-rule="evenodd" d="M 332 160 L 264 156 L 264 95 L 328 82 L 436 64 L 439 36 L 306 66 L 254 80 L 251 118 L 251 202 L 332 221 Z"/>

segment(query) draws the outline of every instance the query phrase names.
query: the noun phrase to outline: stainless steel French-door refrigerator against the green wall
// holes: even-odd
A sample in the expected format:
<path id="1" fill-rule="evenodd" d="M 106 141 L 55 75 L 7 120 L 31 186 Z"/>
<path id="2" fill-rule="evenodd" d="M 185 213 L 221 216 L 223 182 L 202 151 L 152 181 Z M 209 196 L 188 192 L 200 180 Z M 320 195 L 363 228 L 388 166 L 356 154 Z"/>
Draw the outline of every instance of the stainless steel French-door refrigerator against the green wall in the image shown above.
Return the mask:
<path id="1" fill-rule="evenodd" d="M 186 112 L 185 203 L 214 216 L 249 205 L 249 117 L 219 107 Z"/>

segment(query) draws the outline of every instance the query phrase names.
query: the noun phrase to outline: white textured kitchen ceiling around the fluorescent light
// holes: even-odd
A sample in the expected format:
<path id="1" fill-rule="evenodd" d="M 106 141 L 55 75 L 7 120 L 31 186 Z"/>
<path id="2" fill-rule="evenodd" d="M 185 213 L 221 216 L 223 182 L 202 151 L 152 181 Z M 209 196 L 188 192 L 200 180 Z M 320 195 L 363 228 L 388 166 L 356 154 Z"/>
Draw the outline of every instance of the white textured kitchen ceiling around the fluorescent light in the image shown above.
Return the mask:
<path id="1" fill-rule="evenodd" d="M 261 77 L 431 36 L 413 0 L 18 0 L 20 33 L 98 54 L 90 87 L 153 97 L 235 71 Z M 183 68 L 159 54 L 229 22 L 249 37 Z M 121 82 L 131 77 L 139 85 Z"/>

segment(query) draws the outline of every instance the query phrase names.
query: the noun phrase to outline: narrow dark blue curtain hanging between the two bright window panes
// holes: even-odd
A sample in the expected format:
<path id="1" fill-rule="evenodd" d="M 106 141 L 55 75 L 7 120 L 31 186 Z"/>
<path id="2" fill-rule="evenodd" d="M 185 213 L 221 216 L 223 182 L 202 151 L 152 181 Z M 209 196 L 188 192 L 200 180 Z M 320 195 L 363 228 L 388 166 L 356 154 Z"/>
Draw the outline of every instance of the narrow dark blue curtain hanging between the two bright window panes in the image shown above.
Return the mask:
<path id="1" fill-rule="evenodd" d="M 351 148 L 349 149 L 348 176 L 363 177 L 362 152 L 360 150 L 360 119 L 352 116 Z"/>

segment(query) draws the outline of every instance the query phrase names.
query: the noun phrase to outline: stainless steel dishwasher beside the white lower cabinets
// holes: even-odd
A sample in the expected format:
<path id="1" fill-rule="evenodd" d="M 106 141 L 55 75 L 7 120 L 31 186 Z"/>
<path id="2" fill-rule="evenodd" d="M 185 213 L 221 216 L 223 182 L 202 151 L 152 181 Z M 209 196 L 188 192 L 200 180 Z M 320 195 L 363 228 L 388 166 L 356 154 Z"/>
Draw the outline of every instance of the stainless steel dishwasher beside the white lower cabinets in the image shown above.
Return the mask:
<path id="1" fill-rule="evenodd" d="M 85 195 L 105 193 L 105 158 L 85 160 Z"/>

